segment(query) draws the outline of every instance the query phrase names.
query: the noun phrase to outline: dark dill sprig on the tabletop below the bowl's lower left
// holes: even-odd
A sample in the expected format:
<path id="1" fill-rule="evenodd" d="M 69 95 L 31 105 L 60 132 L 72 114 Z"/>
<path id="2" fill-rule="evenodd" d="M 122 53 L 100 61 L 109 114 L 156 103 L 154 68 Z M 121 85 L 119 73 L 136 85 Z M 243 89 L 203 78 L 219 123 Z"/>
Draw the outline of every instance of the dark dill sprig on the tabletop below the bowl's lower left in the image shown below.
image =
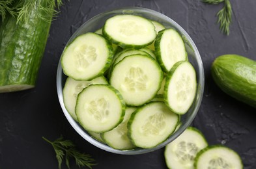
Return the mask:
<path id="1" fill-rule="evenodd" d="M 78 151 L 73 142 L 70 140 L 64 140 L 63 136 L 57 138 L 57 140 L 54 140 L 53 142 L 44 136 L 42 138 L 53 146 L 59 164 L 59 169 L 61 169 L 61 164 L 64 158 L 68 168 L 70 168 L 70 158 L 74 158 L 79 167 L 87 166 L 88 168 L 92 168 L 92 166 L 96 165 L 96 161 L 92 159 L 91 155 Z"/>

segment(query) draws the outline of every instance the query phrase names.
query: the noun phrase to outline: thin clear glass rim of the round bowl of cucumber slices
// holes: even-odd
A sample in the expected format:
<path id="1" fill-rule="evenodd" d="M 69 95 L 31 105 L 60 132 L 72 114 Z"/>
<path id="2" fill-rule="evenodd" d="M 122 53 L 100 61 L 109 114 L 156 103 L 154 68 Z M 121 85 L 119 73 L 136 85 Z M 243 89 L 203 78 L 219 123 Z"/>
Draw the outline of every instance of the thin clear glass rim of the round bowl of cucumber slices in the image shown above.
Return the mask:
<path id="1" fill-rule="evenodd" d="M 168 138 L 167 140 L 165 140 L 164 142 L 162 142 L 161 144 L 158 144 L 158 146 L 154 147 L 154 148 L 150 148 L 150 149 L 143 149 L 143 148 L 139 148 L 139 149 L 130 149 L 130 150 L 119 150 L 119 149 L 113 149 L 110 146 L 107 146 L 106 144 L 103 144 L 102 142 L 92 138 L 92 136 L 87 135 L 87 133 L 85 132 L 84 129 L 82 129 L 82 127 L 78 124 L 78 122 L 76 122 L 72 116 L 70 116 L 70 114 L 68 113 L 68 111 L 66 110 L 65 106 L 64 106 L 64 100 L 63 100 L 63 85 L 62 85 L 62 81 L 63 81 L 63 68 L 61 66 L 61 57 L 59 59 L 59 64 L 57 66 L 57 95 L 59 98 L 59 103 L 61 105 L 61 108 L 63 110 L 64 116 L 66 116 L 66 119 L 68 120 L 68 122 L 70 123 L 70 125 L 72 125 L 72 127 L 76 130 L 76 132 L 82 136 L 85 140 L 87 140 L 87 142 L 91 143 L 92 145 L 100 148 L 100 149 L 104 149 L 105 151 L 109 151 L 111 153 L 117 153 L 117 154 L 122 154 L 122 155 L 137 155 L 137 154 L 143 154 L 143 153 L 149 153 L 151 151 L 155 151 L 157 149 L 163 148 L 164 146 L 166 146 L 167 144 L 169 144 L 170 142 L 172 142 L 173 140 L 175 140 L 181 133 L 184 132 L 184 130 L 193 122 L 193 119 L 195 118 L 195 116 L 197 115 L 197 112 L 199 110 L 199 107 L 201 105 L 201 101 L 203 99 L 203 92 L 204 92 L 204 87 L 205 87 L 205 74 L 204 74 L 204 69 L 203 69 L 203 62 L 201 60 L 201 56 L 200 53 L 196 47 L 196 45 L 194 44 L 192 38 L 190 38 L 189 34 L 184 31 L 184 29 L 178 25 L 178 23 L 176 23 L 173 19 L 165 16 L 164 14 L 156 11 L 156 10 L 151 10 L 149 8 L 143 8 L 143 7 L 138 7 L 138 6 L 127 6 L 127 7 L 121 7 L 121 8 L 113 8 L 112 10 L 107 10 L 106 12 L 101 12 L 100 14 L 97 14 L 96 16 L 92 17 L 91 19 L 88 19 L 87 21 L 85 21 L 85 23 L 83 23 L 77 30 L 76 32 L 74 32 L 74 34 L 72 34 L 72 36 L 70 37 L 70 39 L 68 40 L 68 42 L 66 43 L 69 44 L 72 39 L 74 39 L 74 37 L 78 36 L 78 32 L 82 29 L 82 27 L 84 25 L 87 25 L 88 23 L 90 23 L 91 21 L 93 21 L 95 18 L 99 18 L 102 15 L 106 15 L 109 13 L 113 13 L 113 12 L 118 12 L 118 11 L 122 11 L 123 12 L 129 12 L 129 11 L 133 11 L 133 12 L 147 12 L 147 13 L 154 13 L 158 16 L 161 16 L 161 19 L 164 18 L 166 21 L 170 22 L 171 25 L 174 25 L 176 29 L 178 29 L 178 31 L 180 31 L 182 34 L 184 34 L 184 36 L 186 37 L 186 40 L 188 40 L 188 42 L 192 45 L 192 49 L 195 53 L 195 58 L 197 60 L 198 63 L 198 67 L 199 67 L 199 72 L 198 72 L 198 78 L 199 81 L 197 81 L 197 96 L 195 96 L 195 99 L 197 99 L 197 103 L 195 104 L 195 109 L 192 112 L 192 115 L 190 116 L 190 120 L 186 123 L 184 123 L 180 128 L 178 128 L 178 130 L 180 130 L 180 132 L 175 132 L 171 135 L 171 138 Z M 63 49 L 64 51 L 64 49 Z"/>

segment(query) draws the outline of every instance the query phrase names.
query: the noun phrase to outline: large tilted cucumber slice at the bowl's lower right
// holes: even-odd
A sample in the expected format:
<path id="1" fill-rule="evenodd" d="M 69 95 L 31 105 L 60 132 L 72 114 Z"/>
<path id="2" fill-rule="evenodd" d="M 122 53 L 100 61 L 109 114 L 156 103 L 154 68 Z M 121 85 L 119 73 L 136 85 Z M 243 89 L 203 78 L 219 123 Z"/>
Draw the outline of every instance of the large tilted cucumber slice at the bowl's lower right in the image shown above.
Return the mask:
<path id="1" fill-rule="evenodd" d="M 128 136 L 140 148 L 153 148 L 164 142 L 177 127 L 178 114 L 162 101 L 153 101 L 135 110 L 128 121 Z"/>

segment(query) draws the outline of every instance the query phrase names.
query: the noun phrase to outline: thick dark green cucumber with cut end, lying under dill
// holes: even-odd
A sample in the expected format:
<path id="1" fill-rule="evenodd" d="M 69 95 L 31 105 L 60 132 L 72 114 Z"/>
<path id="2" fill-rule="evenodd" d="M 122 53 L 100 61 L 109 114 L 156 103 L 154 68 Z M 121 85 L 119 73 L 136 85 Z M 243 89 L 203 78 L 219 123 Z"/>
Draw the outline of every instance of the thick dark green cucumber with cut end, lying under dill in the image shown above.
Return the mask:
<path id="1" fill-rule="evenodd" d="M 49 17 L 35 6 L 25 21 L 7 16 L 0 24 L 0 93 L 33 88 L 50 30 Z"/>

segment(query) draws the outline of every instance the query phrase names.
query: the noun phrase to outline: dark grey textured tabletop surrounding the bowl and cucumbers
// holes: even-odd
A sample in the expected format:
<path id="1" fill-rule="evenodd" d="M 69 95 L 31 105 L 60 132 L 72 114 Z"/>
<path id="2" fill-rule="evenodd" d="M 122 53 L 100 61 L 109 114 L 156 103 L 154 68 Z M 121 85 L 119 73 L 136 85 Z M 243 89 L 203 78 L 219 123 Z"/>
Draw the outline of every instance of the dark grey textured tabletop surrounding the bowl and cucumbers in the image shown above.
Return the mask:
<path id="1" fill-rule="evenodd" d="M 143 155 L 117 155 L 92 146 L 72 129 L 57 99 L 55 77 L 64 45 L 87 19 L 119 6 L 162 12 L 190 34 L 205 68 L 205 94 L 193 126 L 205 134 L 209 144 L 235 149 L 245 169 L 256 168 L 256 109 L 227 96 L 210 75 L 210 66 L 219 55 L 235 53 L 256 60 L 256 1 L 231 0 L 231 5 L 231 33 L 224 36 L 216 24 L 221 5 L 205 5 L 199 0 L 64 1 L 51 25 L 36 87 L 0 94 L 0 168 L 57 168 L 55 153 L 42 136 L 55 140 L 60 135 L 90 153 L 98 162 L 93 168 L 167 168 L 164 149 Z M 70 165 L 78 168 L 74 161 Z"/>

